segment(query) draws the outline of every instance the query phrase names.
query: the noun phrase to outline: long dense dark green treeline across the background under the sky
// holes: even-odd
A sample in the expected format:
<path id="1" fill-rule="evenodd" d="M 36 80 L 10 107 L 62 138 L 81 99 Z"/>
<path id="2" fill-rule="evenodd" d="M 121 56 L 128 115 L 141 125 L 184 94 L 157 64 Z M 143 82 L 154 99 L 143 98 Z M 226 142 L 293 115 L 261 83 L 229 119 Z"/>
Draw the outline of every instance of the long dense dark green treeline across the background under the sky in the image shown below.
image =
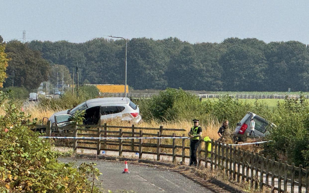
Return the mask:
<path id="1" fill-rule="evenodd" d="M 97 38 L 85 43 L 32 41 L 51 64 L 70 73 L 79 65 L 80 82 L 123 84 L 125 43 Z M 177 38 L 128 40 L 127 83 L 134 89 L 308 91 L 308 47 L 297 41 L 266 44 L 255 38 L 190 44 Z M 68 82 L 69 83 L 69 82 Z"/>

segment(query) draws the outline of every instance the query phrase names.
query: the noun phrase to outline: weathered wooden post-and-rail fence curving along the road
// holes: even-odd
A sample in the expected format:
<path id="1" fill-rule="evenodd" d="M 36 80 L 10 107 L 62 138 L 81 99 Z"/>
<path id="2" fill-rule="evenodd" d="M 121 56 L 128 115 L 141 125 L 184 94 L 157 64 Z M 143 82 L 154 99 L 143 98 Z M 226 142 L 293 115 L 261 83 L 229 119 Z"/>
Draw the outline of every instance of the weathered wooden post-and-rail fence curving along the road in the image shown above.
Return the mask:
<path id="1" fill-rule="evenodd" d="M 39 126 L 39 125 L 37 125 Z M 40 125 L 46 128 L 46 136 L 73 136 L 73 137 L 185 137 L 185 129 L 173 128 L 142 128 L 111 125 L 75 125 L 73 128 Z M 57 132 L 55 132 L 57 131 Z M 60 132 L 59 132 L 60 131 Z M 66 131 L 66 132 L 65 132 Z M 150 132 L 147 132 L 150 131 Z M 152 132 L 151 132 L 152 131 Z M 168 131 L 168 135 L 163 132 Z M 181 133 L 176 135 L 176 131 Z M 156 133 L 155 133 L 156 132 Z M 184 133 L 185 132 L 185 133 Z M 172 162 L 190 159 L 189 139 L 54 139 L 56 146 L 71 147 L 76 149 L 96 150 L 97 155 L 104 151 L 116 151 L 119 156 L 123 152 L 138 153 L 139 159 L 143 154 L 156 155 L 156 160 L 161 156 L 171 158 Z M 71 144 L 68 144 L 71 143 Z M 211 146 L 210 151 L 208 145 Z M 294 163 L 289 165 L 287 161 L 275 160 L 274 157 L 264 156 L 248 150 L 236 148 L 235 145 L 222 143 L 220 141 L 204 141 L 199 139 L 198 166 L 210 168 L 210 170 L 221 170 L 231 180 L 247 182 L 255 189 L 269 187 L 277 192 L 305 192 L 309 191 L 309 167 L 302 165 L 295 167 Z"/>

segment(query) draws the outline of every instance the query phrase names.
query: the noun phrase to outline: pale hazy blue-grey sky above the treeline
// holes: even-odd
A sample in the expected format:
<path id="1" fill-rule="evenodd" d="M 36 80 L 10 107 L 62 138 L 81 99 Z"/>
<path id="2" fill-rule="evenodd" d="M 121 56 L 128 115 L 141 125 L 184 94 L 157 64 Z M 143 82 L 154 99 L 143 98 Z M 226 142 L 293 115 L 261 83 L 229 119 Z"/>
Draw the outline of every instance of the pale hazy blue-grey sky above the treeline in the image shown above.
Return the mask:
<path id="1" fill-rule="evenodd" d="M 229 37 L 309 44 L 309 1 L 36 1 L 0 0 L 5 41 L 85 42 L 107 35 L 127 39 L 177 37 L 190 43 Z"/>

